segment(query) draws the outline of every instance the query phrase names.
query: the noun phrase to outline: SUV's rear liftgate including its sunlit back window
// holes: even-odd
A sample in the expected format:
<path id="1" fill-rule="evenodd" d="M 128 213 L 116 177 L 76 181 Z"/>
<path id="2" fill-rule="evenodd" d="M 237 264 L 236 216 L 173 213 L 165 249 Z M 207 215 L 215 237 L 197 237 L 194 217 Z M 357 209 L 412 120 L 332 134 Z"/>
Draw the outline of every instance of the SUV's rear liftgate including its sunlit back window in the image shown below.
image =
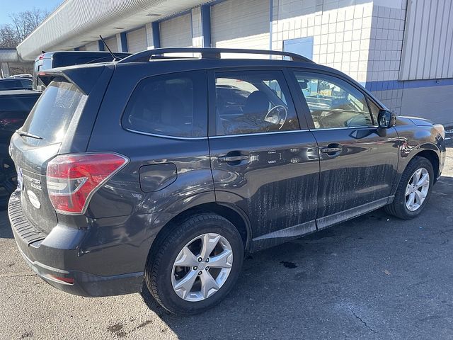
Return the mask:
<path id="1" fill-rule="evenodd" d="M 47 163 L 57 155 L 71 120 L 78 118 L 76 113 L 84 108 L 86 98 L 71 82 L 55 79 L 11 139 L 23 212 L 43 232 L 50 232 L 57 224 L 47 195 Z"/>

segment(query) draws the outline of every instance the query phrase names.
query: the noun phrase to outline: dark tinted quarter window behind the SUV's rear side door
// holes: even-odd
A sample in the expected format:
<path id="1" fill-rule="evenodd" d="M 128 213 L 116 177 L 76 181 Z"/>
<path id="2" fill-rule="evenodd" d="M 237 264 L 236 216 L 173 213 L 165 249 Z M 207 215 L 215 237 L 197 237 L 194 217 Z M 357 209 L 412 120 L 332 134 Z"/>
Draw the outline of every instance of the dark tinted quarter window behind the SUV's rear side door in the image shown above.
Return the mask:
<path id="1" fill-rule="evenodd" d="M 155 135 L 205 137 L 205 72 L 180 72 L 143 79 L 127 103 L 122 126 Z"/>

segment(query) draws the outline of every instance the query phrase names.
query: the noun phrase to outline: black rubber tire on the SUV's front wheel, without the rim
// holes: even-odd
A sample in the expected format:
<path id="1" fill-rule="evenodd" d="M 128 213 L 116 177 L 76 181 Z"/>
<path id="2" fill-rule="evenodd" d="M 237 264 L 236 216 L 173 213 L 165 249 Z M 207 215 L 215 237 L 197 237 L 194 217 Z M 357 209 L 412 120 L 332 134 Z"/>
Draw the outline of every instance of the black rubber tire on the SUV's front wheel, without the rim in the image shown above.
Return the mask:
<path id="1" fill-rule="evenodd" d="M 415 205 L 415 210 L 410 210 L 408 208 L 408 205 L 406 204 L 406 198 L 409 198 L 409 196 L 406 196 L 406 189 L 408 188 L 408 186 L 411 186 L 412 183 L 411 180 L 413 180 L 413 175 L 415 174 L 415 171 L 418 171 L 419 169 L 425 169 L 425 171 L 428 171 L 429 186 L 426 186 L 426 188 L 428 188 L 428 192 L 425 195 L 423 203 L 421 205 L 418 205 L 418 207 Z M 425 208 L 426 203 L 430 199 L 434 179 L 435 179 L 434 170 L 432 169 L 431 162 L 428 161 L 428 159 L 425 159 L 424 157 L 418 156 L 413 157 L 413 159 L 411 159 L 411 162 L 409 162 L 409 164 L 406 166 L 403 175 L 401 176 L 398 188 L 396 188 L 393 203 L 386 205 L 385 211 L 390 215 L 394 215 L 398 218 L 401 218 L 402 220 L 410 220 L 411 218 L 418 216 L 420 212 L 422 212 L 422 210 Z M 417 190 L 420 191 L 420 188 L 418 188 Z M 415 194 L 416 193 L 414 193 L 414 197 L 417 196 Z M 415 199 L 415 202 L 416 201 L 417 198 Z"/>

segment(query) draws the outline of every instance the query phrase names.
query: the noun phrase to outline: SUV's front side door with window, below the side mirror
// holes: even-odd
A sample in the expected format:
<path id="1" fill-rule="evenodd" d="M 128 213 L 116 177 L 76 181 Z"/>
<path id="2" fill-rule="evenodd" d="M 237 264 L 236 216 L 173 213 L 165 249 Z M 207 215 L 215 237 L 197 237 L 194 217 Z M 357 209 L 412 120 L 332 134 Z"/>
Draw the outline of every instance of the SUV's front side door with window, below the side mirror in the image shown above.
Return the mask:
<path id="1" fill-rule="evenodd" d="M 352 82 L 294 72 L 319 145 L 319 229 L 388 202 L 398 164 L 394 128 L 378 133 L 379 108 Z"/>

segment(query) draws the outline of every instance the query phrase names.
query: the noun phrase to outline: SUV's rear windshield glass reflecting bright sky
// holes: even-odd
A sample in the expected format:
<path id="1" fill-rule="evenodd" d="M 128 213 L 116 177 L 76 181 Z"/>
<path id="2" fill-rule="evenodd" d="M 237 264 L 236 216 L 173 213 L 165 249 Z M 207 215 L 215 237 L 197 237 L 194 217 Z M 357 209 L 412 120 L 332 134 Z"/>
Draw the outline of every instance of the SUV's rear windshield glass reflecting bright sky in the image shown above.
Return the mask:
<path id="1" fill-rule="evenodd" d="M 81 111 L 86 97 L 69 81 L 55 79 L 41 95 L 21 130 L 41 137 L 45 144 L 62 142 L 74 113 Z"/>

